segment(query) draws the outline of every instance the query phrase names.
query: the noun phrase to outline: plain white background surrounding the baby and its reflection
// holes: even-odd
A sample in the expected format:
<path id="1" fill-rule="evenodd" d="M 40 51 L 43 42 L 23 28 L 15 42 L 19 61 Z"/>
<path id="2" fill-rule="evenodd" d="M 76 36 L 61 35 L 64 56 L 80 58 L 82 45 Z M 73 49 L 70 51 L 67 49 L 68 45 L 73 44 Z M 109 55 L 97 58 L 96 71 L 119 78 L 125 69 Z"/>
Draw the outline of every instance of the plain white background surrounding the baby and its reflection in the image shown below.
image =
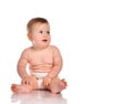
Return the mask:
<path id="1" fill-rule="evenodd" d="M 10 85 L 20 83 L 17 62 L 31 45 L 25 25 L 34 17 L 49 20 L 62 53 L 68 104 L 133 103 L 132 0 L 1 0 L 1 104 L 11 104 Z"/>

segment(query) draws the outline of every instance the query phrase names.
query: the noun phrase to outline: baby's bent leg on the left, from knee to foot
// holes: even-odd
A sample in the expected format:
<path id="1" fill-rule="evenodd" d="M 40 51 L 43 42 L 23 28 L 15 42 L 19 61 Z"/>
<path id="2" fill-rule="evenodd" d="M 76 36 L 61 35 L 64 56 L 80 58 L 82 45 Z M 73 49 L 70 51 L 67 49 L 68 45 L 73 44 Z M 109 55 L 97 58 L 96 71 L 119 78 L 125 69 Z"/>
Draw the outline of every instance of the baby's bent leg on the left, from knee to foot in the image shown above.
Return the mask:
<path id="1" fill-rule="evenodd" d="M 35 77 L 29 76 L 22 80 L 21 84 L 12 84 L 11 90 L 13 93 L 29 93 L 38 89 L 38 81 Z"/>

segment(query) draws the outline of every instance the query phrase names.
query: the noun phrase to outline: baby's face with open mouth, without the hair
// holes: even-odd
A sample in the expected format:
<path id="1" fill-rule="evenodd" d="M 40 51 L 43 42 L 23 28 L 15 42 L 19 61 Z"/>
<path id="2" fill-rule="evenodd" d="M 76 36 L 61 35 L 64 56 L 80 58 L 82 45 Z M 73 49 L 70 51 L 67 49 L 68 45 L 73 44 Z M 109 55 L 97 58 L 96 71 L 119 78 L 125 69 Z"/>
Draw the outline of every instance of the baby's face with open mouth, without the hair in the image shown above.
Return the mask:
<path id="1" fill-rule="evenodd" d="M 31 41 L 35 48 L 47 48 L 50 44 L 50 25 L 48 23 L 35 23 L 31 30 Z"/>

